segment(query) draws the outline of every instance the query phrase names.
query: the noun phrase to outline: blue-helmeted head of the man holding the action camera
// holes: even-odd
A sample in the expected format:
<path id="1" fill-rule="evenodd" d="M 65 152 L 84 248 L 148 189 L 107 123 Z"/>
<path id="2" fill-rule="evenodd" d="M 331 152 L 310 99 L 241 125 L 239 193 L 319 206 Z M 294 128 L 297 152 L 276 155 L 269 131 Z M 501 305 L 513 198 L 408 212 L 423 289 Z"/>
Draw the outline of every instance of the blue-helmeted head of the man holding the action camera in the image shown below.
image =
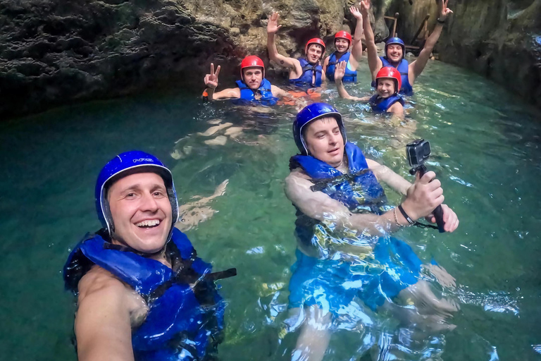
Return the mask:
<path id="1" fill-rule="evenodd" d="M 313 103 L 299 111 L 293 137 L 303 155 L 340 166 L 347 141 L 342 115 L 326 103 Z"/>

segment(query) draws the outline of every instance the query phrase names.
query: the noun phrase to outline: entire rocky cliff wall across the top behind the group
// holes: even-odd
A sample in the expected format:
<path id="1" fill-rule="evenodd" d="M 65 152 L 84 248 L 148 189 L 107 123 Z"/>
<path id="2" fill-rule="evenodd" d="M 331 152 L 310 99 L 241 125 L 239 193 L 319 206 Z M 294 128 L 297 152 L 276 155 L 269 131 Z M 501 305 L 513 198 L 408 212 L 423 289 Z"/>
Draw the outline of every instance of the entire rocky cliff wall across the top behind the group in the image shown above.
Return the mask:
<path id="1" fill-rule="evenodd" d="M 278 50 L 301 55 L 351 31 L 352 0 L 0 1 L 0 118 L 180 82 L 200 84 L 209 63 L 236 74 L 246 54 L 266 62 L 266 20 L 279 11 Z M 373 0 L 376 37 L 398 11 L 411 37 L 433 0 Z M 541 0 L 456 0 L 440 59 L 473 68 L 541 106 Z M 270 66 L 269 71 L 272 71 Z M 225 79 L 223 79 L 225 80 Z M 202 85 L 201 85 L 202 88 Z M 199 89 L 198 89 L 199 91 Z"/>

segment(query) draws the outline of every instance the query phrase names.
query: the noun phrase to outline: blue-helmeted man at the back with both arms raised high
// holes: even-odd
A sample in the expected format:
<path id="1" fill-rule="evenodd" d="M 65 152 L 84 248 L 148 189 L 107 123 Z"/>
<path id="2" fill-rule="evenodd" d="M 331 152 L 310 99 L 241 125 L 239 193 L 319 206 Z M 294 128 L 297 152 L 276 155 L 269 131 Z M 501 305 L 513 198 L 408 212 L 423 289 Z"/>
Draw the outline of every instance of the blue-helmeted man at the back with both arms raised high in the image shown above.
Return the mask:
<path id="1" fill-rule="evenodd" d="M 445 1 L 445 2 L 444 2 Z M 394 66 L 402 75 L 402 88 L 400 92 L 404 95 L 413 95 L 413 82 L 423 72 L 423 69 L 430 58 L 437 39 L 440 38 L 442 33 L 443 24 L 447 20 L 447 16 L 453 13 L 451 9 L 447 8 L 449 0 L 437 0 L 438 14 L 437 24 L 430 37 L 426 39 L 425 46 L 415 61 L 411 64 L 404 59 L 405 47 L 402 39 L 394 37 L 392 35 L 390 39 L 385 42 L 385 56 L 378 56 L 378 49 L 375 47 L 374 33 L 368 20 L 368 10 L 370 9 L 370 0 L 361 1 L 361 13 L 364 20 L 364 34 L 366 37 L 366 50 L 368 51 L 368 66 L 372 73 L 372 86 L 375 87 L 375 76 L 383 66 Z"/>

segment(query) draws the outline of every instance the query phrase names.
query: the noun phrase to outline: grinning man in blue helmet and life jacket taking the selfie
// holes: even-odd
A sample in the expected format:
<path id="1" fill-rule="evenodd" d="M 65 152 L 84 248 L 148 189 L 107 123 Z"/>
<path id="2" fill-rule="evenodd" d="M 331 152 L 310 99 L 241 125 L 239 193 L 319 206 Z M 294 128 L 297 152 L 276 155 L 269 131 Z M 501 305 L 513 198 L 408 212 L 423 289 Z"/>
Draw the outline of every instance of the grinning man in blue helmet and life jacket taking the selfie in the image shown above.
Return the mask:
<path id="1" fill-rule="evenodd" d="M 224 305 L 213 281 L 224 274 L 212 274 L 175 228 L 169 169 L 145 152 L 118 154 L 101 169 L 95 195 L 103 228 L 87 234 L 64 267 L 66 289 L 77 295 L 79 360 L 216 353 Z"/>

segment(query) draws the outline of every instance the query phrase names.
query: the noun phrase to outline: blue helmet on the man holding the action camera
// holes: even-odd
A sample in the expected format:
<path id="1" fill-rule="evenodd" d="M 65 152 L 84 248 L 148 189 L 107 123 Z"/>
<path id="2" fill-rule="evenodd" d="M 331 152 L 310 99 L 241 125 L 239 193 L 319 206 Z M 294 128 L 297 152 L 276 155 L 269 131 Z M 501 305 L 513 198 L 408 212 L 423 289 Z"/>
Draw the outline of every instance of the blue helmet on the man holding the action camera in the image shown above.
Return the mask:
<path id="1" fill-rule="evenodd" d="M 299 148 L 302 154 L 308 155 L 308 147 L 306 147 L 306 142 L 304 142 L 304 137 L 302 137 L 303 127 L 312 121 L 326 116 L 334 116 L 336 118 L 336 122 L 340 127 L 340 133 L 342 133 L 342 138 L 344 139 L 344 145 L 346 144 L 346 129 L 342 121 L 342 114 L 327 103 L 313 103 L 299 111 L 297 118 L 293 122 L 293 137 L 297 148 Z"/>

